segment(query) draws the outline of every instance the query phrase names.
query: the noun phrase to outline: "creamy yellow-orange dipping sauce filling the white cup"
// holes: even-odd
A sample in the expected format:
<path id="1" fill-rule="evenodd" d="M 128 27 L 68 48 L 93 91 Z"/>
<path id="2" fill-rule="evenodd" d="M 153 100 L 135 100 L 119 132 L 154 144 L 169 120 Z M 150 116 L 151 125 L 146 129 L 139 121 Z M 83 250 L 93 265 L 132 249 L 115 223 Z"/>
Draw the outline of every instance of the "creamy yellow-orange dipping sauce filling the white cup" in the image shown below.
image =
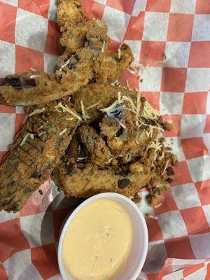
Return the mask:
<path id="1" fill-rule="evenodd" d="M 99 199 L 78 211 L 66 230 L 62 258 L 77 280 L 111 280 L 123 271 L 132 248 L 132 222 L 113 200 Z"/>

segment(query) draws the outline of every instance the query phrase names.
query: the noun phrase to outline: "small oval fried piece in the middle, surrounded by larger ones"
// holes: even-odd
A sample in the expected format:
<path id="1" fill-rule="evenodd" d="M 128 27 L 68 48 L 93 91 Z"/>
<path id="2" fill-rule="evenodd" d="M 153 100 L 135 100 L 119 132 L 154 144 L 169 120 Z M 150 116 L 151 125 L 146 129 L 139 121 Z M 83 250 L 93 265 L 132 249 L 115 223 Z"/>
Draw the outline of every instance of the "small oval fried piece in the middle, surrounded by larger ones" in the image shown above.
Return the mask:
<path id="1" fill-rule="evenodd" d="M 110 164 L 112 157 L 109 148 L 93 127 L 88 125 L 79 127 L 78 139 L 87 148 L 88 157 L 93 165 L 106 167 Z"/>

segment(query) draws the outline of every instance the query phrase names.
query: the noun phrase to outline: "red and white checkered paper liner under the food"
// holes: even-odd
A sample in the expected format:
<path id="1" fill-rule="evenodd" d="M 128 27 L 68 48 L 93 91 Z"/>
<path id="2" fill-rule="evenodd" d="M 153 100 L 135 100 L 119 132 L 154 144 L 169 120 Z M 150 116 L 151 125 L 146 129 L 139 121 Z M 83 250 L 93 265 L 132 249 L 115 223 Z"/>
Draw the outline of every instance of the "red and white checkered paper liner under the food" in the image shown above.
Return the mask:
<path id="1" fill-rule="evenodd" d="M 139 87 L 174 129 L 165 132 L 178 155 L 172 187 L 147 219 L 149 248 L 138 279 L 210 279 L 210 1 L 83 0 L 88 18 L 109 26 L 111 49 L 125 41 Z M 53 71 L 59 51 L 54 0 L 0 0 L 0 76 Z M 140 74 L 143 81 L 139 81 Z M 0 106 L 1 158 L 20 129 L 20 107 Z M 59 229 L 78 201 L 49 182 L 18 214 L 0 212 L 0 279 L 61 279 Z"/>

